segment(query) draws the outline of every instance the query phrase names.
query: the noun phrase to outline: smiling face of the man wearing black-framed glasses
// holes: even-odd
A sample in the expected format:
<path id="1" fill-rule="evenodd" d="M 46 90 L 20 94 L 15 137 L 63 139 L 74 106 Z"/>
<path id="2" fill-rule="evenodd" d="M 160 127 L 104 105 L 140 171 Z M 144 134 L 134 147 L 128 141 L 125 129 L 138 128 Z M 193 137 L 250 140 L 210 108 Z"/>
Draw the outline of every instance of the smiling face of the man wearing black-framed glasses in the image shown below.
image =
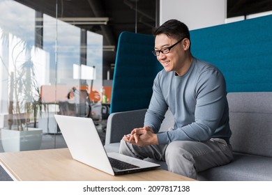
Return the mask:
<path id="1" fill-rule="evenodd" d="M 179 40 L 174 38 L 169 38 L 165 34 L 160 34 L 156 36 L 154 49 L 160 50 L 165 47 L 170 47 L 178 41 Z M 163 65 L 165 71 L 175 71 L 178 75 L 183 72 L 183 65 L 186 58 L 183 42 L 184 40 L 181 40 L 181 42 L 172 47 L 169 53 L 163 54 L 160 52 L 160 55 L 157 56 L 158 61 Z"/>

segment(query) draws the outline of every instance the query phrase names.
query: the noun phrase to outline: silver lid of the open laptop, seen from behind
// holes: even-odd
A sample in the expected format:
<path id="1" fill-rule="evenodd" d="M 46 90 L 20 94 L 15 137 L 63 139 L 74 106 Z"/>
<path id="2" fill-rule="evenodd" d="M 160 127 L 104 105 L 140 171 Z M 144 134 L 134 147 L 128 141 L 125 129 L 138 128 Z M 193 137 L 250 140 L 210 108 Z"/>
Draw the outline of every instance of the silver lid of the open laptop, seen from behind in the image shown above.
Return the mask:
<path id="1" fill-rule="evenodd" d="M 114 171 L 91 118 L 55 115 L 73 159 L 114 176 Z"/>

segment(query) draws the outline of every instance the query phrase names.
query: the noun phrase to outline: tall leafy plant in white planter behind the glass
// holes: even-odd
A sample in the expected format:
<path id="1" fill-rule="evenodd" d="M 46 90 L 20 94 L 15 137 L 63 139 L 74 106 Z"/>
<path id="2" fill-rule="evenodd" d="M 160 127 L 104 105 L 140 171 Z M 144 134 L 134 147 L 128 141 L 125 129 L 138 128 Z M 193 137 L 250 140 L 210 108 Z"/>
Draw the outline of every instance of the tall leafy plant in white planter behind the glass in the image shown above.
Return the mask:
<path id="1" fill-rule="evenodd" d="M 8 70 L 8 127 L 1 130 L 1 142 L 5 152 L 38 150 L 43 130 L 36 128 L 41 111 L 40 91 L 31 61 L 31 45 L 15 40 Z M 12 71 L 10 71 L 10 69 Z"/>

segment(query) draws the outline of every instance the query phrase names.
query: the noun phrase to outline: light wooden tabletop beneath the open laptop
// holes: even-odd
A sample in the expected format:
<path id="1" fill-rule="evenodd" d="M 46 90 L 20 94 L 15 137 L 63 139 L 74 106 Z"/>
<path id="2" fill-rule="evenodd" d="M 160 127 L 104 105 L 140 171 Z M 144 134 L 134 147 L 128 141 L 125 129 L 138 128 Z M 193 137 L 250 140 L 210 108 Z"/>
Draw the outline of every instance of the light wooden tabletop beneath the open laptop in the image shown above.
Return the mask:
<path id="1" fill-rule="evenodd" d="M 68 148 L 0 153 L 0 163 L 13 180 L 24 181 L 155 181 L 192 180 L 163 169 L 111 176 L 74 160 Z"/>

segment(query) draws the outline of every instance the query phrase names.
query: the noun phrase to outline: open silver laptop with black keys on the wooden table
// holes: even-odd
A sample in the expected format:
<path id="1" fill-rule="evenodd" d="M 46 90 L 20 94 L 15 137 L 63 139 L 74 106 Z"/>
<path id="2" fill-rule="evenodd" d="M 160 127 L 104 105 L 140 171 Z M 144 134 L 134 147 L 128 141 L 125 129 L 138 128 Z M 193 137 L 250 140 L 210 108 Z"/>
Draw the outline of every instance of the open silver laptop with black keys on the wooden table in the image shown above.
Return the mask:
<path id="1" fill-rule="evenodd" d="M 73 159 L 79 162 L 112 176 L 149 171 L 160 166 L 119 153 L 106 153 L 91 118 L 63 115 L 55 115 L 55 118 Z M 114 162 L 117 162 L 116 166 Z M 125 168 L 119 167 L 121 165 L 125 165 Z"/>

